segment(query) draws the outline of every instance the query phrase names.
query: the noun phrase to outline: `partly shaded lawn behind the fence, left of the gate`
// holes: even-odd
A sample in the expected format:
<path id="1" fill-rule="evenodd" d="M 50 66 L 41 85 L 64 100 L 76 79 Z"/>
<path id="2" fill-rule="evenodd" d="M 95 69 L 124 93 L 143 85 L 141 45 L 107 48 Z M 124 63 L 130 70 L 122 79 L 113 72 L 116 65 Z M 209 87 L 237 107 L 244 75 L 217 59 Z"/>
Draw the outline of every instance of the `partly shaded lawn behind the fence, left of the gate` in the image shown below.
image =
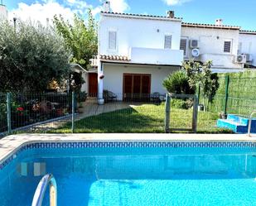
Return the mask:
<path id="1" fill-rule="evenodd" d="M 141 110 L 142 108 L 140 108 Z M 164 132 L 164 118 L 155 111 L 137 111 L 134 108 L 125 108 L 110 113 L 101 113 L 96 116 L 85 117 L 75 122 L 75 132 Z M 142 109 L 143 110 L 143 109 Z M 56 132 L 69 130 L 71 123 L 66 123 Z"/>

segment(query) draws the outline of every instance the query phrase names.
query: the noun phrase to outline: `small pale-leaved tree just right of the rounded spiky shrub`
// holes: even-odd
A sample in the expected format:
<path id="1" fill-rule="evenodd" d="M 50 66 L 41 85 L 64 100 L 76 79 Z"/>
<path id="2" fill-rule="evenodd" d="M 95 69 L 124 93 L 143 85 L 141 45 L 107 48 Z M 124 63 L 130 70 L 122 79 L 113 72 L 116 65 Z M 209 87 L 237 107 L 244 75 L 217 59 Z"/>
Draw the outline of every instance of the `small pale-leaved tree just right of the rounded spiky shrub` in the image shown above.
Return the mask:
<path id="1" fill-rule="evenodd" d="M 218 75 L 212 74 L 212 62 L 206 61 L 203 65 L 194 60 L 183 62 L 182 69 L 186 71 L 188 82 L 191 88 L 200 87 L 202 95 L 212 102 L 215 93 L 219 88 Z"/>

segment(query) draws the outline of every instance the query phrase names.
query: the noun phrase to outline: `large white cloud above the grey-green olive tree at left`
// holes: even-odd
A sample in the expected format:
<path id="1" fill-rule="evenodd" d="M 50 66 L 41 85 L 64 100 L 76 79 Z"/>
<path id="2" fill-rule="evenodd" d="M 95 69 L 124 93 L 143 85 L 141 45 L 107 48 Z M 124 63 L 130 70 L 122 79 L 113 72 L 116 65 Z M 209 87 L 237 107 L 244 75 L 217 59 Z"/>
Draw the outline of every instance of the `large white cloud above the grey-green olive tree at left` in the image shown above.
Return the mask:
<path id="1" fill-rule="evenodd" d="M 11 20 L 13 17 L 17 17 L 23 21 L 39 21 L 42 24 L 46 24 L 46 19 L 52 20 L 54 15 L 61 15 L 66 20 L 71 21 L 74 17 L 74 12 L 70 7 L 64 7 L 54 0 L 46 0 L 43 3 L 36 2 L 31 5 L 20 2 L 17 9 L 10 12 L 9 17 Z"/>

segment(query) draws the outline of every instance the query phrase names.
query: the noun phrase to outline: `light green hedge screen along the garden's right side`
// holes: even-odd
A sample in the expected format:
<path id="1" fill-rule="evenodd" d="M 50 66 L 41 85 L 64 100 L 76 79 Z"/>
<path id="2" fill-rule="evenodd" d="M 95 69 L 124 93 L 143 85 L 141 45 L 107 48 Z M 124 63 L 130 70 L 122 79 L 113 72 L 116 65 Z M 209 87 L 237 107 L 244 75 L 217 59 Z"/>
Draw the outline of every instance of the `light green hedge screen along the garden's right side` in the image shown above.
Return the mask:
<path id="1" fill-rule="evenodd" d="M 213 113 L 224 112 L 225 108 L 225 78 L 229 76 L 229 95 L 227 113 L 235 113 L 248 117 L 256 109 L 256 71 L 218 74 L 220 87 L 213 103 L 208 103 L 200 97 L 200 103 L 206 110 Z"/>

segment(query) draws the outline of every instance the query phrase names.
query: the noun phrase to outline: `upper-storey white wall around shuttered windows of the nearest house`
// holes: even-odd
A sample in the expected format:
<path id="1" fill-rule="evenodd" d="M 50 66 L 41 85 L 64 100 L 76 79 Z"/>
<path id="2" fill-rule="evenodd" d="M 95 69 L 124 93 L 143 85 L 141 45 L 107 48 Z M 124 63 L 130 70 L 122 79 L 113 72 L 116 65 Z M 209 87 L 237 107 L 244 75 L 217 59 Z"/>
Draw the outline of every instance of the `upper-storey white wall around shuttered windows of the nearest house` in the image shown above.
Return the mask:
<path id="1" fill-rule="evenodd" d="M 117 31 L 117 50 L 108 50 L 109 30 Z M 102 14 L 99 22 L 99 54 L 129 56 L 131 47 L 163 50 L 167 34 L 171 35 L 171 50 L 180 50 L 181 21 L 106 17 Z"/>

